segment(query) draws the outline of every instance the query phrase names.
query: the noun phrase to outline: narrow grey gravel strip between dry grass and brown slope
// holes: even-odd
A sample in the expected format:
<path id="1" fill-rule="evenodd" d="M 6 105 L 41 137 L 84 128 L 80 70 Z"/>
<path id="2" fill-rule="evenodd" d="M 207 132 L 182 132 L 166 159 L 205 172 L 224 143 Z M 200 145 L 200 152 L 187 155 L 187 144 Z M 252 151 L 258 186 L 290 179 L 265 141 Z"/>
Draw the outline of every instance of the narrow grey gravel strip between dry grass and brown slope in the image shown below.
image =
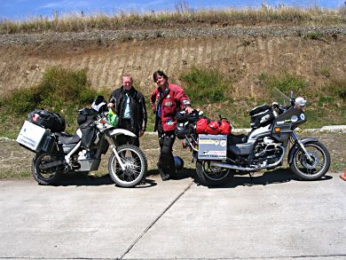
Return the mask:
<path id="1" fill-rule="evenodd" d="M 99 40 L 146 40 L 155 38 L 213 37 L 213 36 L 302 36 L 311 33 L 346 35 L 346 27 L 226 27 L 226 28 L 162 28 L 151 30 L 97 30 L 42 34 L 0 35 L 0 44 L 64 43 Z"/>

